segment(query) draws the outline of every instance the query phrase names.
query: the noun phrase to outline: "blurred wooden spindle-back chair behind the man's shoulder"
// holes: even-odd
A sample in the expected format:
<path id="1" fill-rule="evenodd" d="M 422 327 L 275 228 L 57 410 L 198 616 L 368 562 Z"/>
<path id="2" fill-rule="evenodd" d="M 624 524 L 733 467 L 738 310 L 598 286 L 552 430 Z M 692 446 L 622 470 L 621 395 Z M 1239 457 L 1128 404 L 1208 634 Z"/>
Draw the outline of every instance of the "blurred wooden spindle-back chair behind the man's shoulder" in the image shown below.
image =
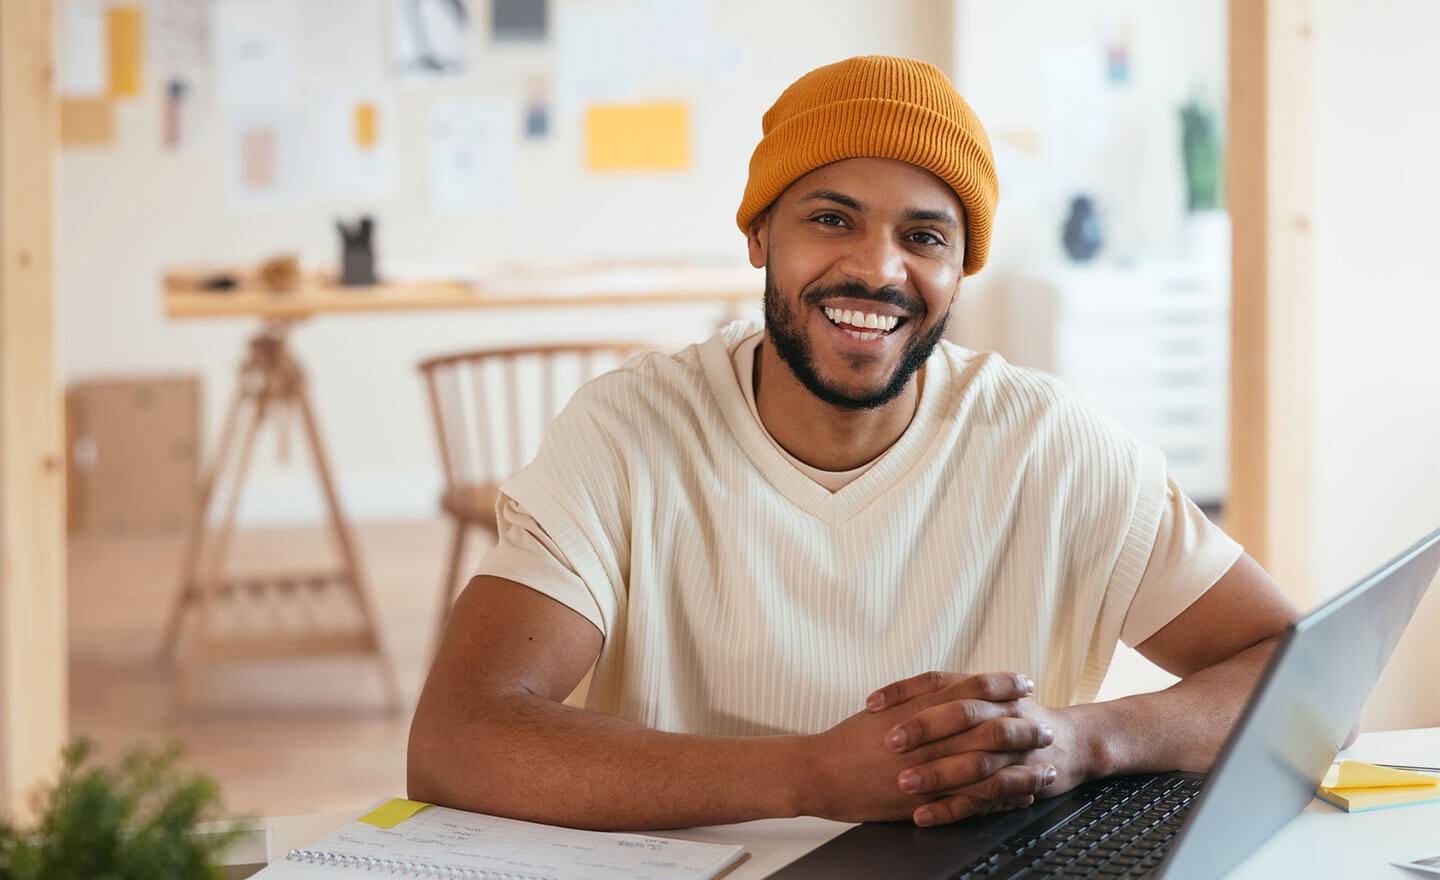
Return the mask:
<path id="1" fill-rule="evenodd" d="M 436 645 L 459 588 L 471 529 L 498 537 L 500 484 L 534 457 L 546 426 L 580 385 L 652 349 L 638 341 L 560 343 L 482 349 L 420 363 L 445 472 L 441 508 L 455 521 Z"/>

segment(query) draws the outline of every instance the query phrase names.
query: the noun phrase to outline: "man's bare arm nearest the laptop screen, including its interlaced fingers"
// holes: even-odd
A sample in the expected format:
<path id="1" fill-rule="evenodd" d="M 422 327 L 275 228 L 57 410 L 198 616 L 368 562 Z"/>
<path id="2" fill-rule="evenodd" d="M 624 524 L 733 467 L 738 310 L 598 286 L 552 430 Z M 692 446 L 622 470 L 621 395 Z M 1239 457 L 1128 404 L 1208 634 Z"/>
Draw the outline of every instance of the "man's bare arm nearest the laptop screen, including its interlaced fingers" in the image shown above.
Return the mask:
<path id="1" fill-rule="evenodd" d="M 1044 795 L 1117 773 L 1208 769 L 1254 690 L 1274 639 L 1296 616 L 1264 569 L 1241 556 L 1204 596 L 1139 645 L 1142 655 L 1181 681 L 1156 693 L 1058 709 L 1021 700 L 1024 716 L 1054 730 L 1051 746 L 1027 756 L 1058 772 Z M 877 691 L 871 706 L 886 709 L 916 697 L 930 700 L 887 735 L 894 736 L 887 742 L 901 743 L 893 746 L 897 752 L 959 742 L 952 701 L 936 699 L 949 686 L 945 675 L 917 675 Z M 919 824 L 955 821 L 976 809 L 968 799 L 943 794 L 956 778 L 972 775 L 976 760 L 973 753 L 950 753 L 917 759 L 900 773 L 903 791 L 933 795 L 916 811 Z"/>

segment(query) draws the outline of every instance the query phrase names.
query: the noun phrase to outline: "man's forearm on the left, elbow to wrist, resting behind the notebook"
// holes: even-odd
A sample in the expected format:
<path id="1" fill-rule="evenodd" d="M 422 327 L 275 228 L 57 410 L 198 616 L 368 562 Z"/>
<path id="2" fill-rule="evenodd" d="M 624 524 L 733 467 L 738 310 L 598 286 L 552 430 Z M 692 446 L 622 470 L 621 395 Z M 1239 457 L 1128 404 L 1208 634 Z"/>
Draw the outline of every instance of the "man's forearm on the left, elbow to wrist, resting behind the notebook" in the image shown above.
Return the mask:
<path id="1" fill-rule="evenodd" d="M 576 828 L 680 828 L 804 811 L 799 736 L 662 733 L 516 691 L 464 709 L 422 700 L 409 794 Z"/>

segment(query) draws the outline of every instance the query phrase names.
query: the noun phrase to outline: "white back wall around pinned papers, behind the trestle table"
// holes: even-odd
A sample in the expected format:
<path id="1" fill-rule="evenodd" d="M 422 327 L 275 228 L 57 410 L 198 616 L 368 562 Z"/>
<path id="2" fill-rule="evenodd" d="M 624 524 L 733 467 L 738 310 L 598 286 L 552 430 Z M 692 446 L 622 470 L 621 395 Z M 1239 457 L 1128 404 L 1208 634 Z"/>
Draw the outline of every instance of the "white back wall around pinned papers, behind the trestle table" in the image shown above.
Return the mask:
<path id="1" fill-rule="evenodd" d="M 552 6 L 576 0 L 553 0 Z M 472 3 L 482 14 L 487 4 Z M 363 9 L 363 7 L 361 7 Z M 387 9 L 387 7 L 386 7 Z M 510 94 L 527 71 L 553 68 L 549 49 L 492 49 L 477 29 L 475 71 L 444 86 L 400 86 L 396 186 L 377 202 L 311 200 L 292 209 L 240 209 L 222 187 L 223 122 L 200 95 L 194 148 L 158 147 L 158 86 L 122 104 L 118 143 L 66 150 L 58 166 L 58 298 L 62 377 L 194 372 L 203 377 L 207 442 L 233 387 L 249 320 L 166 318 L 160 277 L 190 264 L 255 264 L 298 252 L 333 265 L 336 216 L 377 217 L 380 271 L 526 261 L 693 258 L 744 262 L 734 207 L 760 114 L 805 71 L 860 53 L 899 53 L 946 66 L 950 4 L 943 0 L 714 0 L 716 30 L 746 65 L 733 81 L 652 82 L 655 96 L 693 102 L 694 167 L 684 174 L 596 177 L 583 170 L 573 124 L 518 150 L 518 207 L 442 217 L 426 206 L 425 144 L 418 133 L 438 95 Z M 759 278 L 756 300 L 759 300 Z M 344 504 L 359 518 L 425 516 L 439 484 L 433 439 L 413 364 L 426 354 L 501 340 L 658 334 L 707 336 L 716 310 L 546 310 L 323 317 L 294 336 L 308 364 Z M 249 521 L 318 516 L 320 497 L 271 454 L 256 462 L 242 516 Z"/>

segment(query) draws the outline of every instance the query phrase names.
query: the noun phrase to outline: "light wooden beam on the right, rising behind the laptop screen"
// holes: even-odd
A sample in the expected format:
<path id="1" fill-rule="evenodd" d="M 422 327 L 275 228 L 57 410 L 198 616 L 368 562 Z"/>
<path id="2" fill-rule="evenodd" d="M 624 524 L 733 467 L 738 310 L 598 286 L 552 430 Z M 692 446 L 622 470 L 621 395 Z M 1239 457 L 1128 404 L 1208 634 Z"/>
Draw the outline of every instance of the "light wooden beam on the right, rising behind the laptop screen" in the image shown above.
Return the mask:
<path id="1" fill-rule="evenodd" d="M 1230 0 L 1230 490 L 1225 527 L 1312 602 L 1312 0 Z"/>

